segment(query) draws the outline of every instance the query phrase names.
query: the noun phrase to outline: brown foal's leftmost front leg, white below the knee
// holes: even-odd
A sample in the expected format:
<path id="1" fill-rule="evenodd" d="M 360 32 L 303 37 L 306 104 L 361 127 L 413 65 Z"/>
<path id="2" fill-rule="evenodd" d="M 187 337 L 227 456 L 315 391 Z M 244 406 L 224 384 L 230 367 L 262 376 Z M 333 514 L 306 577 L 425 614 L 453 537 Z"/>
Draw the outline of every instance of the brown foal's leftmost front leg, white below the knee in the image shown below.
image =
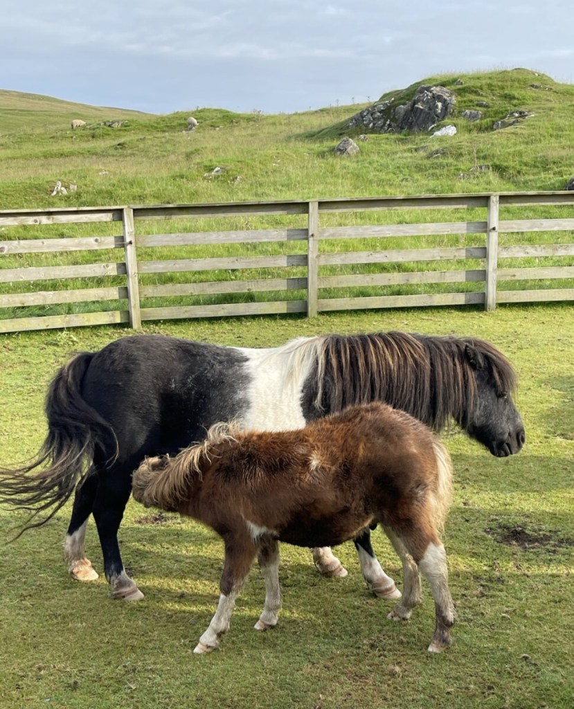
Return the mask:
<path id="1" fill-rule="evenodd" d="M 193 649 L 196 654 L 215 650 L 219 646 L 220 637 L 229 630 L 231 614 L 235 608 L 235 598 L 247 579 L 256 554 L 257 546 L 249 537 L 227 537 L 225 539 L 225 562 L 219 584 L 221 595 L 218 609 L 215 611 L 208 629 Z"/>

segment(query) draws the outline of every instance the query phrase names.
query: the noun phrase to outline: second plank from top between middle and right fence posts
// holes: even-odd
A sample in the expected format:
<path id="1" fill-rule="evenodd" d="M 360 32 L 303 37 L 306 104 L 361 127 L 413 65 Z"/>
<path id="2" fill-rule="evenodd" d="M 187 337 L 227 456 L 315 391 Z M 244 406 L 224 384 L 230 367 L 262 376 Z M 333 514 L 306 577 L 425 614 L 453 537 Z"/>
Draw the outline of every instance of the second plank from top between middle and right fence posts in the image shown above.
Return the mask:
<path id="1" fill-rule="evenodd" d="M 486 222 L 434 222 L 417 224 L 377 224 L 371 226 L 338 226 L 319 230 L 320 239 L 365 239 L 442 234 L 483 234 Z"/>

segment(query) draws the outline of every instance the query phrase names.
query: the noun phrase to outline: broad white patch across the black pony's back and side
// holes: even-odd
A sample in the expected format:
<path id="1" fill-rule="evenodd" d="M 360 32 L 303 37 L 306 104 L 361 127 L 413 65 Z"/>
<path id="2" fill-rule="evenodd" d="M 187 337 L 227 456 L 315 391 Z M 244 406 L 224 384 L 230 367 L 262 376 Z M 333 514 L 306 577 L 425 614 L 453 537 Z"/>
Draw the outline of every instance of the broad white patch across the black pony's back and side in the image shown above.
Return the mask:
<path id="1" fill-rule="evenodd" d="M 246 429 L 285 431 L 305 427 L 301 394 L 316 359 L 320 338 L 299 337 L 274 349 L 237 350 L 247 357 L 249 408 L 242 416 Z"/>

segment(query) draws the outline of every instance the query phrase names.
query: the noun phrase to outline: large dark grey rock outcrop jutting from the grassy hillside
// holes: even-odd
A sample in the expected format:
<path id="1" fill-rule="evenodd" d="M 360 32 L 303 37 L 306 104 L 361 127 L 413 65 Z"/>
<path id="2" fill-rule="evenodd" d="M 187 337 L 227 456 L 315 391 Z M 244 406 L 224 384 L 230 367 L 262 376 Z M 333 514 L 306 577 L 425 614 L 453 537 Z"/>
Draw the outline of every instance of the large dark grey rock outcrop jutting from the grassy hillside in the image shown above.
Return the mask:
<path id="1" fill-rule="evenodd" d="M 419 86 L 407 104 L 398 105 L 396 97 L 378 101 L 357 113 L 349 128 L 366 127 L 371 133 L 421 133 L 451 115 L 456 97 L 444 86 Z"/>

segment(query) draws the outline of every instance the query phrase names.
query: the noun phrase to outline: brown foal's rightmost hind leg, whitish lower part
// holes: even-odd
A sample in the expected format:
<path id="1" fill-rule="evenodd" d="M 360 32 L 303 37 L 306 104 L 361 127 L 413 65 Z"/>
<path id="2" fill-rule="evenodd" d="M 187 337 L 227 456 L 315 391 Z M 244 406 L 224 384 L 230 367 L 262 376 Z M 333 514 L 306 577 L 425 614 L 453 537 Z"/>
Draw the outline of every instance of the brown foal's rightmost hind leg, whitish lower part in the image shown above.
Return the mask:
<path id="1" fill-rule="evenodd" d="M 429 644 L 429 652 L 442 652 L 451 644 L 451 627 L 456 611 L 449 591 L 449 571 L 446 567 L 444 546 L 431 542 L 419 562 L 421 574 L 429 582 L 434 598 L 436 626 Z"/>

